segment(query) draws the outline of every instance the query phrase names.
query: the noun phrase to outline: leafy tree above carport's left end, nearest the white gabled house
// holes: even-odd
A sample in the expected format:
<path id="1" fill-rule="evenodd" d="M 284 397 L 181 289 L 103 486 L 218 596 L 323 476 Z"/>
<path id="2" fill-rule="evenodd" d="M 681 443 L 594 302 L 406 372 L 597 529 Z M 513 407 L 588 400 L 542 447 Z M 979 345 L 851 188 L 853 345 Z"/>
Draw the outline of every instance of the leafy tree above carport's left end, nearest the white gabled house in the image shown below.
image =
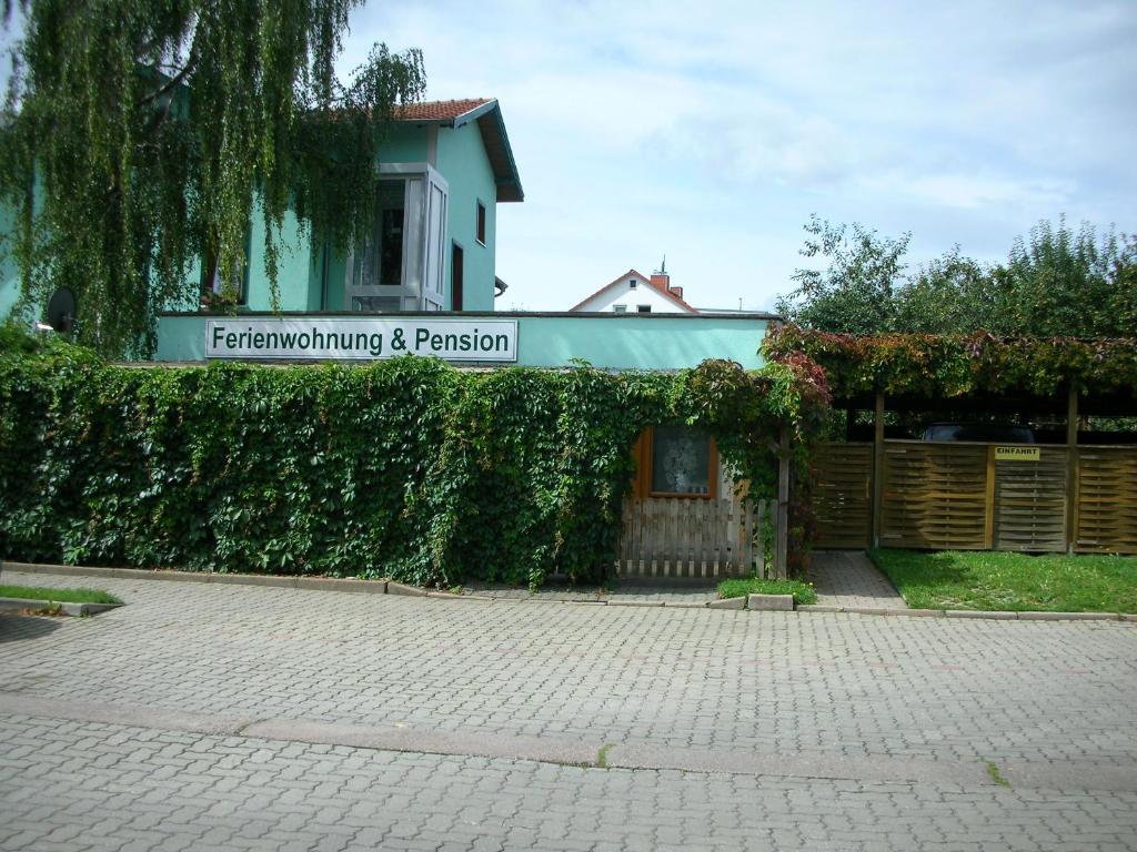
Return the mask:
<path id="1" fill-rule="evenodd" d="M 787 319 L 811 328 L 852 334 L 872 334 L 891 327 L 893 289 L 904 274 L 904 252 L 911 234 L 898 240 L 878 236 L 853 224 L 852 239 L 845 225 L 831 225 L 816 216 L 804 226 L 808 236 L 800 253 L 825 258 L 825 269 L 798 269 L 798 286 L 778 300 Z"/>

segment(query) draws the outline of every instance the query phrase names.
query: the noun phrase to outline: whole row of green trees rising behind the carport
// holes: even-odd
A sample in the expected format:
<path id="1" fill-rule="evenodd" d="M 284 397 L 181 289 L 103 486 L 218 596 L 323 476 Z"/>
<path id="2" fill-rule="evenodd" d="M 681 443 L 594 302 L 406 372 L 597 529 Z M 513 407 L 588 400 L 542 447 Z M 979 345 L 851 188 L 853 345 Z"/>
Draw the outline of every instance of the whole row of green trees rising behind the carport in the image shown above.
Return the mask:
<path id="1" fill-rule="evenodd" d="M 986 266 L 960 247 L 908 273 L 910 234 L 898 240 L 813 217 L 802 254 L 829 260 L 798 269 L 798 289 L 779 310 L 810 328 L 850 334 L 969 334 L 1035 337 L 1137 336 L 1137 237 L 1098 239 L 1059 219 L 1015 240 L 1005 265 Z"/>

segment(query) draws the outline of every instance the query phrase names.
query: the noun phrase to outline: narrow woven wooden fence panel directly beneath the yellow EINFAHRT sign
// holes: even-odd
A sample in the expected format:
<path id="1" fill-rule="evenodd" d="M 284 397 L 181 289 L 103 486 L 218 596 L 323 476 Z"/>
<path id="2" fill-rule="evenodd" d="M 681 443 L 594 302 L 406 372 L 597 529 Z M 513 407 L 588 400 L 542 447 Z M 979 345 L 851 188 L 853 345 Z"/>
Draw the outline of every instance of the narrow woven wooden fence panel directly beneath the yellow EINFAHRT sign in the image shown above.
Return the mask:
<path id="1" fill-rule="evenodd" d="M 1065 550 L 1067 448 L 1038 449 L 1038 461 L 995 462 L 995 550 Z"/>

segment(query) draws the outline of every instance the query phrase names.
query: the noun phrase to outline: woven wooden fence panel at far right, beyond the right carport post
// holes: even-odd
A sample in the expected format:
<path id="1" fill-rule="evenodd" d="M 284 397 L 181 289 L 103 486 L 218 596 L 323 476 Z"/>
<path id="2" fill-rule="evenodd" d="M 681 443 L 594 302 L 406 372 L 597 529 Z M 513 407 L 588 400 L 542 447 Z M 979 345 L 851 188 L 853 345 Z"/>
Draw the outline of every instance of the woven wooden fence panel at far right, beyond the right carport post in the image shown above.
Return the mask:
<path id="1" fill-rule="evenodd" d="M 1078 448 L 1074 549 L 1137 553 L 1137 446 Z"/>

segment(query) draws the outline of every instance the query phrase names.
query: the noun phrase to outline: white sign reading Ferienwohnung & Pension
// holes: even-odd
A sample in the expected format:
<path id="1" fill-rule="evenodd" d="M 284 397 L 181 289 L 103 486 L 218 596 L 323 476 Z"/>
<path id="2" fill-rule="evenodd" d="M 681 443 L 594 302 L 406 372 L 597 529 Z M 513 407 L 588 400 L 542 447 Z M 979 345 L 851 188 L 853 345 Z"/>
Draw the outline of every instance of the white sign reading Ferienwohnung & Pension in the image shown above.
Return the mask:
<path id="1" fill-rule="evenodd" d="M 206 320 L 206 358 L 373 361 L 402 354 L 516 361 L 517 321 L 393 316 Z"/>

